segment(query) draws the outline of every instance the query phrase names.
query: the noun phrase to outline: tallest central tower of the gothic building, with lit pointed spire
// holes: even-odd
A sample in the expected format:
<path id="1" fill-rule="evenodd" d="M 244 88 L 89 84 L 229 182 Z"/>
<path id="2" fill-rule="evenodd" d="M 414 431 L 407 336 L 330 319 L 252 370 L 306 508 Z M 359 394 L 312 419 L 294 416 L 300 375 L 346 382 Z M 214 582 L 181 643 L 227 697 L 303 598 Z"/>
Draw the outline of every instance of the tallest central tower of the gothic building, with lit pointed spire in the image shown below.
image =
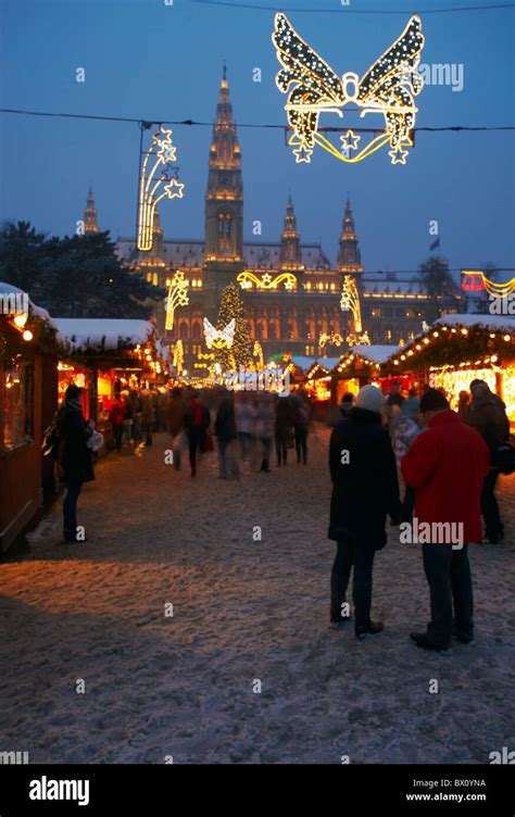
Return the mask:
<path id="1" fill-rule="evenodd" d="M 205 261 L 243 257 L 241 152 L 224 63 L 213 125 L 205 193 Z"/>

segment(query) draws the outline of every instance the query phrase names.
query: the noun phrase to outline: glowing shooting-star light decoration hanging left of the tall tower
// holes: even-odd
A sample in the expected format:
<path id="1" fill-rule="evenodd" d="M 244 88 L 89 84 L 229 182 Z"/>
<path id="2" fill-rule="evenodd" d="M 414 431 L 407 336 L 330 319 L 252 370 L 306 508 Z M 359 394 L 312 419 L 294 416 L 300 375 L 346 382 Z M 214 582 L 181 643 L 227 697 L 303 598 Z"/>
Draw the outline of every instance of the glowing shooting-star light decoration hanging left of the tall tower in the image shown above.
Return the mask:
<path id="1" fill-rule="evenodd" d="M 152 137 L 152 146 L 147 152 L 139 179 L 138 208 L 138 250 L 152 249 L 155 209 L 162 199 L 181 199 L 184 185 L 178 181 L 176 148 L 172 141 L 172 130 L 160 127 Z M 164 184 L 167 183 L 167 184 Z M 164 185 L 164 186 L 163 186 Z M 164 192 L 159 194 L 163 186 Z"/>

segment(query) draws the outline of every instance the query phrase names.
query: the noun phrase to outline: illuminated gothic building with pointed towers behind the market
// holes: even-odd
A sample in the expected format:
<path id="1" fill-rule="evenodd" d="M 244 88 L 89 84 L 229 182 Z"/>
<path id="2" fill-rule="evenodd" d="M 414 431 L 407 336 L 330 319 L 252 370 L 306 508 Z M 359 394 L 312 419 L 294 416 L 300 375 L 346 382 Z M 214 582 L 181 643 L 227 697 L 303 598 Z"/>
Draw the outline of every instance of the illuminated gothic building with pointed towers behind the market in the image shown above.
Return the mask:
<path id="1" fill-rule="evenodd" d="M 155 286 L 166 288 L 177 271 L 184 273 L 189 304 L 176 311 L 173 329 L 165 330 L 164 301 L 156 304 L 155 313 L 165 341 L 173 344 L 181 340 L 185 367 L 190 373 L 193 367 L 202 368 L 199 355 L 208 351 L 203 318 L 216 324 L 227 284 L 242 287 L 249 336 L 260 341 L 265 360 L 284 352 L 334 356 L 344 351 L 344 339 L 355 328 L 352 314 L 342 312 L 340 306 L 346 276 L 355 281 L 363 329 L 373 343 L 397 343 L 420 329 L 424 293 L 419 285 L 415 280 L 397 280 L 392 274 L 380 280 L 364 273 L 349 200 L 336 266 L 321 243 L 301 240 L 291 198 L 277 242 L 243 240 L 242 159 L 225 70 L 209 152 L 204 209 L 203 239 L 164 239 L 158 214 L 149 252 L 138 251 L 134 239 L 117 241 L 123 262 Z M 88 217 L 93 211 L 90 193 Z M 330 340 L 322 352 L 323 336 Z"/>

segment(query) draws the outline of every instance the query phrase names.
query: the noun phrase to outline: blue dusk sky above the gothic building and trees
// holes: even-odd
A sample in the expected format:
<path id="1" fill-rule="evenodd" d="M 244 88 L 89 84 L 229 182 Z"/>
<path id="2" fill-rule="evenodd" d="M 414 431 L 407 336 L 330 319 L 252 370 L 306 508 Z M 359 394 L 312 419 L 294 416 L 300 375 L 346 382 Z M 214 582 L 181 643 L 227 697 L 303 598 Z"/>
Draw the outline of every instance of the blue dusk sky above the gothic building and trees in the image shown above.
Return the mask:
<path id="1" fill-rule="evenodd" d="M 265 10 L 194 0 L 4 0 L 1 106 L 212 123 L 226 60 L 236 122 L 285 125 L 271 39 L 278 3 L 253 2 Z M 285 0 L 282 10 L 340 76 L 362 76 L 418 12 L 423 63 L 463 65 L 464 87 L 426 85 L 417 97 L 417 126 L 513 125 L 515 9 L 430 13 L 488 2 L 419 0 L 417 9 L 413 0 L 351 0 L 349 7 Z M 353 13 L 377 9 L 405 13 Z M 85 83 L 76 81 L 77 67 L 85 68 Z M 255 67 L 261 83 L 253 81 Z M 382 122 L 380 114 L 343 120 L 349 127 Z M 72 234 L 91 185 L 101 228 L 114 238 L 135 235 L 137 124 L 7 113 L 0 123 L 2 218 Z M 322 124 L 341 122 L 325 114 Z M 311 164 L 296 164 L 282 130 L 240 127 L 238 134 L 247 240 L 255 240 L 254 219 L 263 224 L 260 240 L 278 239 L 291 190 L 302 240 L 322 239 L 335 260 L 350 191 L 366 271 L 416 269 L 434 240 L 432 219 L 451 267 L 515 267 L 513 131 L 420 133 L 405 166 L 390 163 L 388 148 L 355 165 L 317 148 Z M 177 126 L 174 140 L 187 188 L 183 200 L 163 202 L 161 223 L 168 239 L 201 239 L 211 127 Z"/>

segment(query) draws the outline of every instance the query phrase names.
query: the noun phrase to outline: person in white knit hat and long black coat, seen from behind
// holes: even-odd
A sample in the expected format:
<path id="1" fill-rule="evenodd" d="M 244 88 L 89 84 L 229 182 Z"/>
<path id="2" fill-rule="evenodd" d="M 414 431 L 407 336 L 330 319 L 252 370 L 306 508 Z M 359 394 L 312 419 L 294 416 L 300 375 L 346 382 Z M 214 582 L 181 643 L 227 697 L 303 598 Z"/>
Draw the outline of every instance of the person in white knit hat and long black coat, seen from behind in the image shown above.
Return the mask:
<path id="1" fill-rule="evenodd" d="M 356 407 L 332 430 L 329 448 L 332 497 L 328 538 L 338 545 L 331 571 L 330 619 L 334 624 L 344 620 L 342 611 L 354 567 L 359 639 L 384 629 L 380 621 L 370 620 L 374 555 L 386 544 L 387 514 L 398 525 L 401 511 L 395 457 L 381 425 L 382 405 L 379 389 L 364 386 Z"/>

